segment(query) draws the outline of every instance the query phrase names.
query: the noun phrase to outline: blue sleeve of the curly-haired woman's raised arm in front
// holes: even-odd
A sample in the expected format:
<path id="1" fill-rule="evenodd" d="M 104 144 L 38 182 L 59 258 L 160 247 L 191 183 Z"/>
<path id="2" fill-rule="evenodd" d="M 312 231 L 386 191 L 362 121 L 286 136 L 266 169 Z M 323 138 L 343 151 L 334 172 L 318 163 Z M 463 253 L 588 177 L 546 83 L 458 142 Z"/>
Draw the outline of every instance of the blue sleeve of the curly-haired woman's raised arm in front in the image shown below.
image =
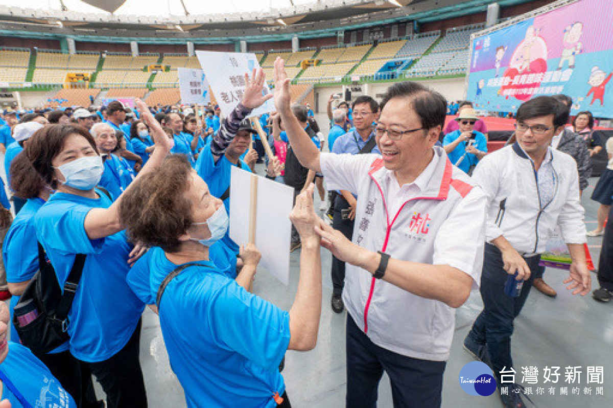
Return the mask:
<path id="1" fill-rule="evenodd" d="M 233 280 L 222 287 L 210 307 L 212 333 L 223 347 L 254 363 L 276 369 L 289 345 L 289 314 L 249 293 Z"/>

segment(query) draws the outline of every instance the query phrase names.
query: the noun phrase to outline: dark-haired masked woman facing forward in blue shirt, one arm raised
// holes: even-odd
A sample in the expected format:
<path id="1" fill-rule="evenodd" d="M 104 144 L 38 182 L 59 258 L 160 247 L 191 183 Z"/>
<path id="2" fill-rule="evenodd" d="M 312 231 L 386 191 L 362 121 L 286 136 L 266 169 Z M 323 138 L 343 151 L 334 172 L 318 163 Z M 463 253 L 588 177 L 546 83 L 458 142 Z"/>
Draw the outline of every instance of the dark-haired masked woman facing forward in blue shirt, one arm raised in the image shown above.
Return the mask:
<path id="1" fill-rule="evenodd" d="M 170 140 L 142 101 L 137 106 L 156 149 L 137 179 L 161 165 Z M 69 349 L 101 383 L 109 407 L 146 407 L 139 363 L 143 303 L 126 284 L 131 256 L 140 252 L 122 232 L 118 207 L 96 185 L 104 165 L 93 137 L 80 126 L 48 126 L 24 150 L 56 193 L 34 217 L 37 238 L 64 285 L 77 253 L 86 255 L 69 312 Z M 126 188 L 129 191 L 131 186 Z"/>

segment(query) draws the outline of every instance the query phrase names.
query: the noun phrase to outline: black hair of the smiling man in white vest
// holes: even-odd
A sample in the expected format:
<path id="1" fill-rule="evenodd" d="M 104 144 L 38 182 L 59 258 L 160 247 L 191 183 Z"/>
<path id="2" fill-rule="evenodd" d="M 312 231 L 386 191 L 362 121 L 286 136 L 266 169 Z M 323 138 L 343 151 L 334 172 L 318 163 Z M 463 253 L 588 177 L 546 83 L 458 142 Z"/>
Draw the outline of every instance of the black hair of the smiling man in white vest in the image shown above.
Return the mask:
<path id="1" fill-rule="evenodd" d="M 440 93 L 425 87 L 421 83 L 404 81 L 387 88 L 379 105 L 381 110 L 394 98 L 410 98 L 413 110 L 421 120 L 422 128 L 443 128 L 447 117 L 447 101 Z"/>

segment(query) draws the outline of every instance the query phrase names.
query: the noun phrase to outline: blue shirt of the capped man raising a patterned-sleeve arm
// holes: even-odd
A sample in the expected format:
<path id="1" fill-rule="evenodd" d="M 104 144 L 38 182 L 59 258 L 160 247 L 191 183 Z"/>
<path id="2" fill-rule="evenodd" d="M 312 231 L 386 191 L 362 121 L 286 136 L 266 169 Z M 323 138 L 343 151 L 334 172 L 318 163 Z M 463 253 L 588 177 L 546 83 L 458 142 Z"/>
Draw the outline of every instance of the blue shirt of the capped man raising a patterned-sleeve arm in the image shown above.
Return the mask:
<path id="1" fill-rule="evenodd" d="M 240 164 L 243 170 L 251 172 L 251 169 L 249 169 L 245 161 L 240 160 Z M 227 160 L 226 155 L 221 156 L 217 163 L 215 163 L 213 152 L 211 152 L 210 147 L 207 146 L 202 149 L 200 156 L 198 156 L 198 160 L 196 161 L 196 172 L 202 177 L 202 180 L 207 182 L 208 190 L 211 194 L 217 198 L 221 198 L 227 188 L 230 187 L 230 169 L 232 166 L 234 166 L 234 164 Z M 226 206 L 227 213 L 230 214 L 230 198 L 224 200 L 224 206 Z M 230 238 L 229 230 L 222 241 L 230 250 L 238 255 L 238 245 Z"/>

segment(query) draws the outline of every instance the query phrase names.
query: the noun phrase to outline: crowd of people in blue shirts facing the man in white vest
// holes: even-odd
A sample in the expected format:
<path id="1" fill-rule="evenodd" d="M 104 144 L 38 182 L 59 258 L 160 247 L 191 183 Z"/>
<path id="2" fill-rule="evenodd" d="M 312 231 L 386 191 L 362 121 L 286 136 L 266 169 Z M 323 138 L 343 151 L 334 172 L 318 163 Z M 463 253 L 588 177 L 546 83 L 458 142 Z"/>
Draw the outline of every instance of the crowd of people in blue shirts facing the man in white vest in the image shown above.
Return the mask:
<path id="1" fill-rule="evenodd" d="M 320 169 L 303 166 L 287 131 L 306 134 L 316 146 L 305 139 L 310 150 L 327 145 L 338 155 L 381 155 L 383 134 L 398 140 L 422 129 L 380 129 L 375 99 L 359 96 L 350 106 L 337 94 L 327 106 L 327 140 L 308 104 L 249 120 L 273 98 L 262 94 L 264 84 L 263 71 L 254 70 L 242 101 L 223 119 L 212 105 L 148 107 L 140 100 L 134 109 L 113 101 L 97 110 L 4 113 L 0 150 L 12 205 L 0 188 L 6 271 L 0 294 L 10 297 L 8 307 L 0 302 L 2 399 L 17 407 L 146 407 L 139 343 L 143 310 L 150 307 L 187 406 L 291 406 L 281 371 L 287 350 L 316 345 L 319 248 L 330 247 L 335 233 L 351 240 L 359 210 L 355 192 L 326 196 Z M 275 93 L 277 106 L 289 103 L 289 90 Z M 441 132 L 437 152 L 470 175 L 487 155 L 487 129 L 478 131 L 484 125 L 470 104 L 451 108 L 457 116 Z M 289 310 L 252 293 L 261 254 L 229 236 L 232 166 L 254 172 L 265 144 L 274 152 L 265 161 L 266 177 L 294 189 L 288 250 L 302 250 Z M 395 154 L 387 152 L 388 160 Z M 315 188 L 335 233 L 316 215 Z M 85 263 L 67 320 L 70 339 L 34 355 L 15 329 L 34 320 L 15 306 L 40 269 L 40 251 L 60 287 L 78 255 Z M 330 306 L 341 313 L 345 262 L 334 254 Z M 198 329 L 181 321 L 197 322 Z M 93 378 L 105 401 L 97 399 Z"/>

